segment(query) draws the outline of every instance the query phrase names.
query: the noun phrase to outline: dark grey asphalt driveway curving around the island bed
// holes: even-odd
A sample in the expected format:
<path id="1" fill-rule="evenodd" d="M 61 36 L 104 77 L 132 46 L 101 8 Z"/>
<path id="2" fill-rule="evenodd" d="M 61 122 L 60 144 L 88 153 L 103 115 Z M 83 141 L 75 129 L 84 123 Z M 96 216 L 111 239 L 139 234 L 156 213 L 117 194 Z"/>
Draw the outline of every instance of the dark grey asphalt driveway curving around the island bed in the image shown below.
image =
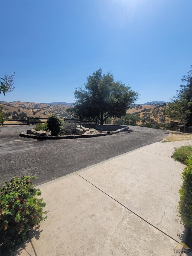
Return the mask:
<path id="1" fill-rule="evenodd" d="M 33 126 L 30 126 L 33 128 Z M 19 133 L 26 126 L 0 127 L 0 185 L 13 176 L 37 176 L 40 185 L 114 156 L 161 141 L 168 133 L 129 126 L 130 131 L 103 137 L 37 140 Z"/>

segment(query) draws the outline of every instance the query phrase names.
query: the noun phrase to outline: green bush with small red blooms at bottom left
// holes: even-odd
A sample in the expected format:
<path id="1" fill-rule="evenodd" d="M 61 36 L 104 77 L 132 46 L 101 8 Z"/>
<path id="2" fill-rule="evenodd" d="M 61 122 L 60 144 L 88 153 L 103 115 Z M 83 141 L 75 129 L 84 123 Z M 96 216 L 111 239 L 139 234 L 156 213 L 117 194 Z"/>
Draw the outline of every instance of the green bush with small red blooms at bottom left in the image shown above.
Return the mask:
<path id="1" fill-rule="evenodd" d="M 34 176 L 32 179 L 36 179 Z M 41 191 L 30 176 L 13 177 L 0 189 L 0 255 L 13 253 L 13 248 L 29 238 L 29 230 L 47 218 Z"/>

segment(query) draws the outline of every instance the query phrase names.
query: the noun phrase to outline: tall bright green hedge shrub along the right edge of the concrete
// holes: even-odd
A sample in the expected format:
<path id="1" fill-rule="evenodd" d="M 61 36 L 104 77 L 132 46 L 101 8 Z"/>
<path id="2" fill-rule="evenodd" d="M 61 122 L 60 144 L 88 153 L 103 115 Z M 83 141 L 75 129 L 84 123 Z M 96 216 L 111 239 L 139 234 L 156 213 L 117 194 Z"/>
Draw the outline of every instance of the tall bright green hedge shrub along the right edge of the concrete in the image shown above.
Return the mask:
<path id="1" fill-rule="evenodd" d="M 180 201 L 178 206 L 182 224 L 192 230 L 192 155 L 186 160 L 187 167 L 182 173 L 182 188 L 179 190 Z"/>

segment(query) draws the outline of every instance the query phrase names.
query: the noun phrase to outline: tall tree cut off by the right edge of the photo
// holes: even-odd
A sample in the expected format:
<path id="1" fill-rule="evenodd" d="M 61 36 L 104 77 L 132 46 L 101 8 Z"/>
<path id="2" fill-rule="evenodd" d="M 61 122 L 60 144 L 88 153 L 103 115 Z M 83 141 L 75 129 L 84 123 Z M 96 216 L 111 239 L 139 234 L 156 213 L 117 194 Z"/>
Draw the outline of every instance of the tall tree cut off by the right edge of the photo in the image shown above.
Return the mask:
<path id="1" fill-rule="evenodd" d="M 166 111 L 170 119 L 178 120 L 184 126 L 192 125 L 192 66 L 190 68 L 191 70 L 182 77 L 183 84 Z"/>

